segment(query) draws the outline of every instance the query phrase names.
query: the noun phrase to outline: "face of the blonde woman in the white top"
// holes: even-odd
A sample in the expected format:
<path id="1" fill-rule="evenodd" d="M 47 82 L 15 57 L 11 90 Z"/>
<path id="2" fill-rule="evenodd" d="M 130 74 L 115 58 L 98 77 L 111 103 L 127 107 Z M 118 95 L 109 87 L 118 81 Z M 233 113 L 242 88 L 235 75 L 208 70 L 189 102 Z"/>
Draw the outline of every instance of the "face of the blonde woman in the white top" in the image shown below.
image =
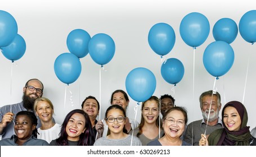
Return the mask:
<path id="1" fill-rule="evenodd" d="M 54 111 L 47 101 L 38 101 L 35 113 L 42 122 L 51 122 Z"/>

